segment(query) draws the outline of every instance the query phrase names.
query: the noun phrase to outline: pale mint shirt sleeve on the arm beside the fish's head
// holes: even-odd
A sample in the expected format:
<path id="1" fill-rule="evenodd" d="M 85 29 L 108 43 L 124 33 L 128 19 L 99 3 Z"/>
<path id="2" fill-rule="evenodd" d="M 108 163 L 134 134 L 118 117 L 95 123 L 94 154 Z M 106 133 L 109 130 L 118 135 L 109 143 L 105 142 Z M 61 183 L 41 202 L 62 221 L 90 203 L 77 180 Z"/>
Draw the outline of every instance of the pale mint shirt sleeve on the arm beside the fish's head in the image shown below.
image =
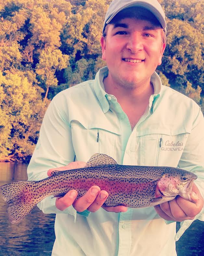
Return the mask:
<path id="1" fill-rule="evenodd" d="M 198 176 L 194 182 L 204 198 L 204 118 L 200 108 L 197 113 L 197 118 L 193 123 L 192 131 L 188 136 L 184 152 L 178 163 L 178 168 L 193 172 Z M 204 208 L 193 220 L 180 222 L 180 229 L 175 236 L 176 241 L 179 240 L 185 230 L 196 219 L 204 221 Z M 165 222 L 169 224 L 173 221 Z"/>

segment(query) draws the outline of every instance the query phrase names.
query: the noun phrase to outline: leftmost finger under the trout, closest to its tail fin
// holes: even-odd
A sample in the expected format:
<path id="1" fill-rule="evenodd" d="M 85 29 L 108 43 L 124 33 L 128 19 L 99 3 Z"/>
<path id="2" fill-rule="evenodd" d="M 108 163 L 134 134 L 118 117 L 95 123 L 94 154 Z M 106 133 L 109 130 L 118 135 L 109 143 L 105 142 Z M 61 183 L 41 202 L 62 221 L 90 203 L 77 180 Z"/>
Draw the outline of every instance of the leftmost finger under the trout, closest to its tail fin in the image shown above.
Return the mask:
<path id="1" fill-rule="evenodd" d="M 67 207 L 72 205 L 77 197 L 77 194 L 77 191 L 72 189 L 62 198 L 57 198 L 55 203 L 57 209 L 59 209 L 60 211 L 64 211 Z"/>

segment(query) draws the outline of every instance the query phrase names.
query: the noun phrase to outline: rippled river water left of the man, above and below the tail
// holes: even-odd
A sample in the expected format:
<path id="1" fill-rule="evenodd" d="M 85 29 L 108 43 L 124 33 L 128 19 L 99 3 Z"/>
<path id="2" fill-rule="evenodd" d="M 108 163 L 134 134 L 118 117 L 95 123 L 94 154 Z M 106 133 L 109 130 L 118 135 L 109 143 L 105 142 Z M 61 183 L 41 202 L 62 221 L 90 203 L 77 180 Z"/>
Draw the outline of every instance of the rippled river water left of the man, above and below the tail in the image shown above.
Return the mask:
<path id="1" fill-rule="evenodd" d="M 27 165 L 0 163 L 0 186 L 27 180 Z M 11 224 L 7 204 L 0 198 L 0 256 L 50 256 L 55 240 L 55 214 L 43 214 L 37 206 L 22 221 Z"/>

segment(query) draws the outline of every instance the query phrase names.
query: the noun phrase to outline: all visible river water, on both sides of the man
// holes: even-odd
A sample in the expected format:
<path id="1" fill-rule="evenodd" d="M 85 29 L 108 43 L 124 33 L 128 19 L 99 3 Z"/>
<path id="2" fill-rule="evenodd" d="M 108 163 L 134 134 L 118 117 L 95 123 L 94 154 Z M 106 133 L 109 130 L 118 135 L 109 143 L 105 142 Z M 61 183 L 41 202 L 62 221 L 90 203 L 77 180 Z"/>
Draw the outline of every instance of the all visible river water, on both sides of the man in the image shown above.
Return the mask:
<path id="1" fill-rule="evenodd" d="M 26 169 L 25 164 L 0 163 L 0 186 L 27 180 Z M 6 208 L 0 198 L 0 256 L 50 256 L 55 240 L 55 214 L 43 214 L 36 206 L 21 222 L 11 224 Z M 178 256 L 203 256 L 204 222 L 194 221 L 176 243 L 176 249 Z"/>

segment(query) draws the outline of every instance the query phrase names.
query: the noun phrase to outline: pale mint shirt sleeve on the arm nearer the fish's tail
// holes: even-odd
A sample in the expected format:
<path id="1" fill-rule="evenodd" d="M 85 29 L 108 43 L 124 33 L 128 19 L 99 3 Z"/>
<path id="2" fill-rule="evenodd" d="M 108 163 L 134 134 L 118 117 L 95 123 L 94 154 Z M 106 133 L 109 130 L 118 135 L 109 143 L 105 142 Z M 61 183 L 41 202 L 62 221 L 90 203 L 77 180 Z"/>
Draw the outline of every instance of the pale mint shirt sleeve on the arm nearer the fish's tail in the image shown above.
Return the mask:
<path id="1" fill-rule="evenodd" d="M 28 165 L 28 180 L 41 180 L 47 171 L 73 162 L 75 153 L 72 145 L 71 127 L 68 119 L 67 102 L 56 96 L 50 103 L 40 129 L 39 139 Z M 60 109 L 60 110 L 59 110 Z M 76 219 L 76 210 L 71 205 L 64 211 L 55 206 L 56 198 L 49 196 L 37 206 L 46 214 L 71 214 Z"/>

